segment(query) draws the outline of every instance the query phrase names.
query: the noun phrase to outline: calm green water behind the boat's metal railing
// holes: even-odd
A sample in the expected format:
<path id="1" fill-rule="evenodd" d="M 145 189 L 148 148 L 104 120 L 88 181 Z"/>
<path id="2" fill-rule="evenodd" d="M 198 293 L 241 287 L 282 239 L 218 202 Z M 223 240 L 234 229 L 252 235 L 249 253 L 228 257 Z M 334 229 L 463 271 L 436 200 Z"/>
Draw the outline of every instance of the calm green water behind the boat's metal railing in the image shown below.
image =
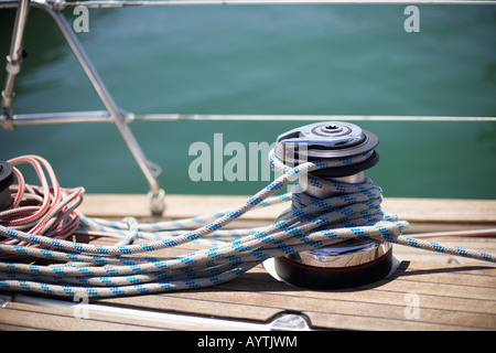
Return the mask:
<path id="1" fill-rule="evenodd" d="M 136 114 L 496 116 L 496 6 L 419 9 L 418 33 L 403 30 L 402 6 L 91 9 L 78 38 L 117 104 Z M 0 57 L 13 18 L 0 11 Z M 50 17 L 34 9 L 29 20 L 14 113 L 103 109 Z M 251 194 L 267 182 L 191 181 L 190 146 L 213 146 L 216 132 L 225 145 L 271 143 L 304 124 L 130 126 L 166 192 Z M 358 124 L 380 139 L 368 175 L 386 196 L 496 199 L 496 122 Z M 111 124 L 0 130 L 0 152 L 43 156 L 64 186 L 148 191 Z"/>

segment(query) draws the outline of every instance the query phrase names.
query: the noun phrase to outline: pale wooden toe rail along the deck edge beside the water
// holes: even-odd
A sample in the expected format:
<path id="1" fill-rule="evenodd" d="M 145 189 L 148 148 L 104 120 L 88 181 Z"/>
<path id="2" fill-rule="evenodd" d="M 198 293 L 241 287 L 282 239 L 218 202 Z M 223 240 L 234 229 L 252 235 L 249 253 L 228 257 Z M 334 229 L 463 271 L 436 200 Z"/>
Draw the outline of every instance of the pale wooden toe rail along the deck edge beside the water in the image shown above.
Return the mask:
<path id="1" fill-rule="evenodd" d="M 229 210 L 250 196 L 238 195 L 165 195 L 163 216 L 183 218 Z M 400 199 L 385 197 L 382 210 L 411 222 L 496 223 L 496 200 Z M 99 217 L 148 217 L 149 200 L 141 194 L 87 194 L 79 211 Z M 288 204 L 250 211 L 247 220 L 273 220 Z"/>

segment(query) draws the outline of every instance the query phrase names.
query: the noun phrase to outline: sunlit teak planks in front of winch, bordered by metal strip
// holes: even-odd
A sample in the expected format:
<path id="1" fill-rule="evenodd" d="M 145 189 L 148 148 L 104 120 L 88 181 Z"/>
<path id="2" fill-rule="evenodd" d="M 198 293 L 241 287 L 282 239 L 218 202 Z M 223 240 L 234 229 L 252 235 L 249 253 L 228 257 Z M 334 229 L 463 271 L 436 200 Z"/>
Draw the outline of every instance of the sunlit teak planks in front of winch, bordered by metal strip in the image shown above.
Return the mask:
<path id="1" fill-rule="evenodd" d="M 442 270 L 445 269 L 456 270 L 456 267 Z M 409 276 L 408 268 L 405 274 L 405 277 L 397 275 L 395 279 L 363 290 L 311 291 L 278 282 L 258 267 L 231 282 L 211 289 L 160 296 L 166 299 L 151 296 L 141 298 L 140 302 L 128 298 L 125 302 L 137 308 L 153 307 L 262 321 L 280 311 L 296 311 L 308 315 L 315 327 L 327 329 L 496 329 L 494 268 L 486 268 L 483 271 L 485 276 L 478 276 L 478 281 L 472 279 L 470 286 L 464 284 L 467 277 L 474 276 L 470 274 L 451 284 L 435 282 L 436 274 L 423 275 L 422 280 L 412 279 L 414 275 Z M 419 298 L 419 320 L 405 318 L 407 299 L 411 293 Z M 119 299 L 104 301 L 121 302 Z M 349 324 L 341 322 L 338 317 Z M 323 318 L 327 319 L 321 321 Z M 368 322 L 375 319 L 378 322 L 370 327 Z M 367 322 L 365 325 L 364 320 Z M 400 322 L 403 324 L 398 325 Z"/>

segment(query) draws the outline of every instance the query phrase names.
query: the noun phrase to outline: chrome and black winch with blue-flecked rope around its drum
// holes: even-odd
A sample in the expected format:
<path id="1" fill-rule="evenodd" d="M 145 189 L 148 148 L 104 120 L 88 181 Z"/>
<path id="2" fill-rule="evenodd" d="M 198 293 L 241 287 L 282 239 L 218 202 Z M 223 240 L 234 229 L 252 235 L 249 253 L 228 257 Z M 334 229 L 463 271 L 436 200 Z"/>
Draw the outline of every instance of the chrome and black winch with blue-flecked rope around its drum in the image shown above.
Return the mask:
<path id="1" fill-rule="evenodd" d="M 345 186 L 359 186 L 366 181 L 365 170 L 378 162 L 379 156 L 374 150 L 378 142 L 379 139 L 373 132 L 343 121 L 311 124 L 280 135 L 276 141 L 274 156 L 290 168 L 306 161 L 345 162 L 343 167 L 320 169 L 300 178 L 298 188 L 293 188 L 292 208 L 280 218 L 298 211 L 303 199 L 319 204 L 321 200 L 347 197 Z M 358 163 L 346 163 L 347 159 L 359 154 L 366 154 L 367 158 Z M 339 225 L 324 226 L 333 227 Z M 274 259 L 274 269 L 282 280 L 296 287 L 343 289 L 385 278 L 391 271 L 392 264 L 390 243 L 351 238 L 324 248 L 278 257 Z"/>

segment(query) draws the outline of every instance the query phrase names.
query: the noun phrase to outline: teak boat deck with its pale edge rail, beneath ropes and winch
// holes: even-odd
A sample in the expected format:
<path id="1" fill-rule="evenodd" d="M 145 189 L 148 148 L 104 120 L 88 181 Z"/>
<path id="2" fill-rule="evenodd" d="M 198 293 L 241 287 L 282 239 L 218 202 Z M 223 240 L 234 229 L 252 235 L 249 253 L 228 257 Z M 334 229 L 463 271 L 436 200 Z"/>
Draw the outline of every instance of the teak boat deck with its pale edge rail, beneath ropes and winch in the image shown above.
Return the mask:
<path id="1" fill-rule="evenodd" d="M 179 218 L 229 208 L 246 197 L 166 200 L 164 216 Z M 240 222 L 267 224 L 284 208 L 250 212 Z M 496 201 L 387 199 L 382 208 L 409 221 L 409 232 L 496 227 Z M 142 195 L 87 195 L 80 211 L 89 216 L 149 218 Z M 438 242 L 496 254 L 496 237 Z M 3 293 L 0 329 L 268 330 L 280 324 L 281 315 L 293 314 L 312 330 L 496 330 L 496 266 L 398 245 L 393 256 L 399 267 L 389 278 L 346 291 L 294 288 L 260 265 L 217 287 L 91 300 L 88 306 Z"/>

